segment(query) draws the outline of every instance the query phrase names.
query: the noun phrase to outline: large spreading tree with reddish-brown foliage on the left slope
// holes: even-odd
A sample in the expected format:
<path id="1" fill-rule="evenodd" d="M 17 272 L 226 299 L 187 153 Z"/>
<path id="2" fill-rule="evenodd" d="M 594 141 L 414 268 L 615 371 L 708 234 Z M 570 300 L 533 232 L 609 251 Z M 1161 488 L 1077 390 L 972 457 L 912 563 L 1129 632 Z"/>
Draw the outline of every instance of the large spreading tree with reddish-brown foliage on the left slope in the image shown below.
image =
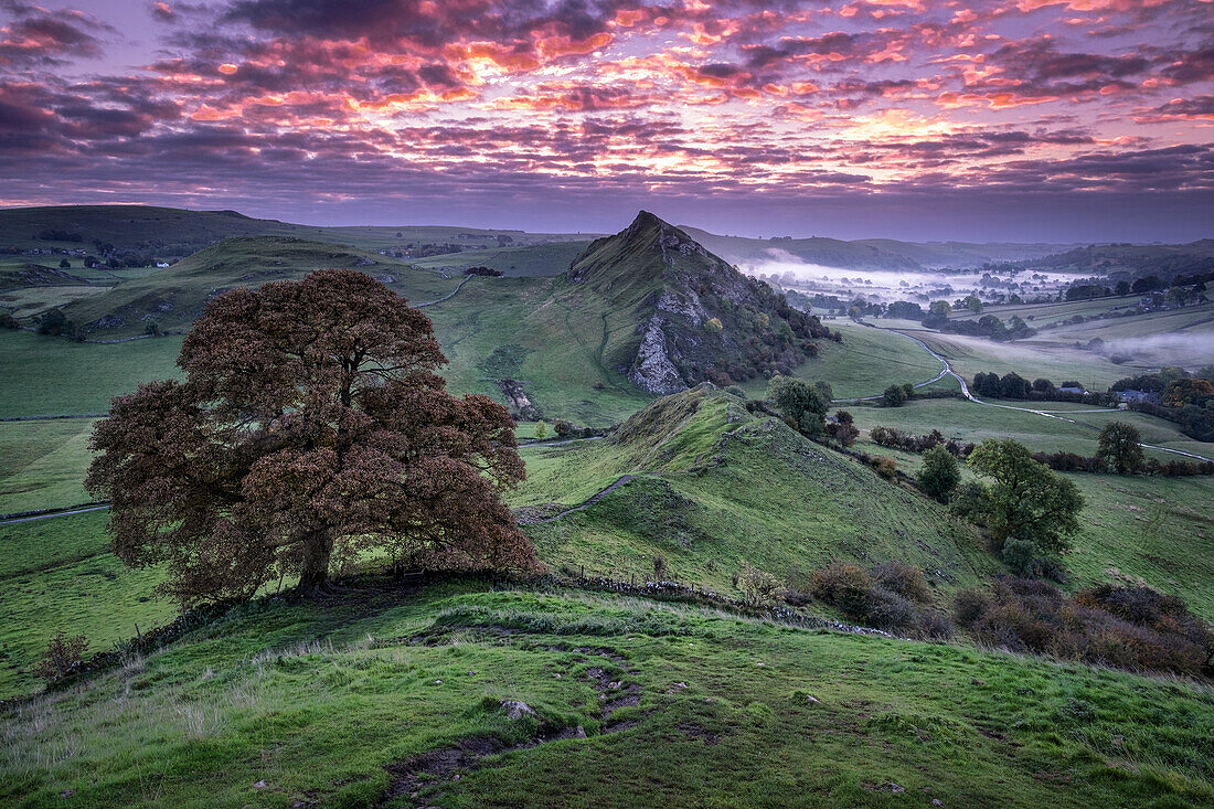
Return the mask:
<path id="1" fill-rule="evenodd" d="M 523 480 L 514 422 L 455 398 L 429 318 L 358 272 L 215 298 L 182 345 L 186 380 L 114 400 L 86 485 L 114 553 L 166 564 L 183 602 L 276 576 L 328 588 L 335 547 L 424 568 L 533 567 L 499 490 Z"/>

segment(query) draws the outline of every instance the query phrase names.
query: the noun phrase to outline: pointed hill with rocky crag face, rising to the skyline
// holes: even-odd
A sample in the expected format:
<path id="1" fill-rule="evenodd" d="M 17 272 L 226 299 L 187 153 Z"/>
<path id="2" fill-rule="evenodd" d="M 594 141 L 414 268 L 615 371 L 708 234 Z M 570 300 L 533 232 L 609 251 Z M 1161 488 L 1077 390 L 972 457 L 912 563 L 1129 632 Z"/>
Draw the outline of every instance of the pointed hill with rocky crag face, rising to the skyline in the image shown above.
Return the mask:
<path id="1" fill-rule="evenodd" d="M 567 277 L 635 316 L 635 340 L 608 360 L 651 394 L 788 374 L 817 355 L 813 339 L 830 334 L 765 283 L 643 210 L 624 231 L 592 242 Z"/>

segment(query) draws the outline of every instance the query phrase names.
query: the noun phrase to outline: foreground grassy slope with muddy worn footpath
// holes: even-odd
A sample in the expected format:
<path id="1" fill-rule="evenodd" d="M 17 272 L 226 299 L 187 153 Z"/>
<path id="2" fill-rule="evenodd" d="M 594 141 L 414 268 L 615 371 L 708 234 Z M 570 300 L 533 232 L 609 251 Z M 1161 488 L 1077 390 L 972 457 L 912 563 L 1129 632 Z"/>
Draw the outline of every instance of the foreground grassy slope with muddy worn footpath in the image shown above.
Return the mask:
<path id="1" fill-rule="evenodd" d="M 1214 800 L 1204 686 L 471 584 L 253 605 L 0 735 L 10 805 Z"/>

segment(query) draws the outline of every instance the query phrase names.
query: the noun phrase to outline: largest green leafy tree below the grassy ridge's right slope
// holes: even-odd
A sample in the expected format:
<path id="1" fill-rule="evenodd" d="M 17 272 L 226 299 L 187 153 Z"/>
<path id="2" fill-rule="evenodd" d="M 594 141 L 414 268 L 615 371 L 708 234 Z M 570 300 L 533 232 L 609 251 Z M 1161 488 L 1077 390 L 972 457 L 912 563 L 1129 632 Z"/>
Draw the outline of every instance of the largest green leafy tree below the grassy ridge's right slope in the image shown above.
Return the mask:
<path id="1" fill-rule="evenodd" d="M 1083 496 L 1072 481 L 1033 459 L 1011 439 L 987 439 L 970 453 L 969 466 L 987 479 L 980 491 L 980 514 L 999 550 L 1008 539 L 1031 542 L 1045 554 L 1067 549 L 1079 530 Z"/>

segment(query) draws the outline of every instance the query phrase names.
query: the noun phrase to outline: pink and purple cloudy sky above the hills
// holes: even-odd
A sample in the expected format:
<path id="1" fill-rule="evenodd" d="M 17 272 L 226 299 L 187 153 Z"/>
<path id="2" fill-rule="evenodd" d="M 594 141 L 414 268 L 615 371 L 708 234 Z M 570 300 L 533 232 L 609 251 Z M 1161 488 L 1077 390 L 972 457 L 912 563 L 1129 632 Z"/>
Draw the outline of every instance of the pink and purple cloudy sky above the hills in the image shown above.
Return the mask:
<path id="1" fill-rule="evenodd" d="M 1214 237 L 1210 0 L 0 0 L 0 205 Z"/>

